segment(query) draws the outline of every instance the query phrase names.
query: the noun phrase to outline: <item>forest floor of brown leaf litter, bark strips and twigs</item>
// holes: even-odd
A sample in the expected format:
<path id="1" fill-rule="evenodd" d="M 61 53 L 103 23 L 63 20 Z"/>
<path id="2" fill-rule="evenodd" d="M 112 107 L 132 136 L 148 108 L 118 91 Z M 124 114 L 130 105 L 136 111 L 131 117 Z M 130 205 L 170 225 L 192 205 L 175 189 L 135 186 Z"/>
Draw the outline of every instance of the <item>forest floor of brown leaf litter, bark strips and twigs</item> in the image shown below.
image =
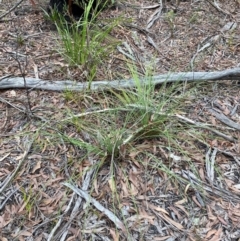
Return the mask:
<path id="1" fill-rule="evenodd" d="M 0 15 L 13 4 L 1 1 Z M 149 69 L 240 67 L 239 7 L 238 0 L 119 1 L 99 16 L 123 20 L 111 32 L 120 44 L 103 59 L 96 80 L 131 78 L 129 63 L 141 77 Z M 81 66 L 59 54 L 58 33 L 39 6 L 23 2 L 1 19 L 0 40 L 0 80 L 24 73 L 87 81 Z M 162 96 L 161 111 L 178 103 L 162 123 L 172 136 L 144 138 L 125 114 L 107 112 L 115 103 L 111 92 L 1 90 L 0 240 L 240 240 L 239 82 L 156 87 L 154 105 Z M 80 113 L 84 123 L 66 123 Z M 178 115 L 192 124 L 176 123 Z M 115 145 L 117 134 L 102 134 L 108 126 L 133 128 L 129 135 L 137 138 L 126 138 L 109 155 L 104 140 Z"/>

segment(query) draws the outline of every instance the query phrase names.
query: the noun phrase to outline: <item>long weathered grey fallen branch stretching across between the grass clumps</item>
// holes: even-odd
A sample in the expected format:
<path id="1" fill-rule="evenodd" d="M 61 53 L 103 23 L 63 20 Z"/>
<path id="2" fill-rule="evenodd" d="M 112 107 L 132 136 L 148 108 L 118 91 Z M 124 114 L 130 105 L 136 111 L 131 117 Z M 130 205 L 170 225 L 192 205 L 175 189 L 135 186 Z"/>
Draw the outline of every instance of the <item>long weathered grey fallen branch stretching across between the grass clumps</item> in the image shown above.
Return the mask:
<path id="1" fill-rule="evenodd" d="M 158 85 L 168 82 L 180 82 L 180 81 L 209 81 L 209 80 L 240 80 L 240 68 L 233 68 L 223 71 L 216 72 L 179 72 L 179 73 L 169 73 L 156 75 L 152 77 L 140 78 L 141 84 Z M 73 90 L 81 91 L 85 89 L 91 90 L 104 90 L 104 89 L 124 89 L 124 88 L 134 88 L 136 87 L 136 80 L 112 80 L 112 81 L 93 81 L 91 85 L 89 82 L 74 82 L 70 80 L 56 80 L 48 81 L 35 78 L 25 78 L 21 77 L 9 77 L 5 76 L 0 79 L 0 89 L 16 89 L 16 88 L 29 88 L 29 89 L 42 89 L 42 90 L 53 90 L 53 91 L 63 91 L 63 90 Z"/>

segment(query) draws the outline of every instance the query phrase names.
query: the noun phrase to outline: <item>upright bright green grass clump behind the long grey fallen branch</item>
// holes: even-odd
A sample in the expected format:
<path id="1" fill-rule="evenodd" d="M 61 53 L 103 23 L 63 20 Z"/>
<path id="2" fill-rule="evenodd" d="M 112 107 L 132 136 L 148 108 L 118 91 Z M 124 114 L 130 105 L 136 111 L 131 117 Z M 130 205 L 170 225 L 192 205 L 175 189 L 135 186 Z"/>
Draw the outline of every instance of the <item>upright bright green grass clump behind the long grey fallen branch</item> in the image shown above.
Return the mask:
<path id="1" fill-rule="evenodd" d="M 69 23 L 56 10 L 52 11 L 51 20 L 55 23 L 60 35 L 59 52 L 71 66 L 78 66 L 89 83 L 94 79 L 96 71 L 119 41 L 110 40 L 109 33 L 119 24 L 119 19 L 104 21 L 104 28 L 96 24 L 104 6 L 93 7 L 93 0 L 84 6 L 84 15 L 78 21 Z M 110 40 L 110 41 L 109 41 Z"/>

